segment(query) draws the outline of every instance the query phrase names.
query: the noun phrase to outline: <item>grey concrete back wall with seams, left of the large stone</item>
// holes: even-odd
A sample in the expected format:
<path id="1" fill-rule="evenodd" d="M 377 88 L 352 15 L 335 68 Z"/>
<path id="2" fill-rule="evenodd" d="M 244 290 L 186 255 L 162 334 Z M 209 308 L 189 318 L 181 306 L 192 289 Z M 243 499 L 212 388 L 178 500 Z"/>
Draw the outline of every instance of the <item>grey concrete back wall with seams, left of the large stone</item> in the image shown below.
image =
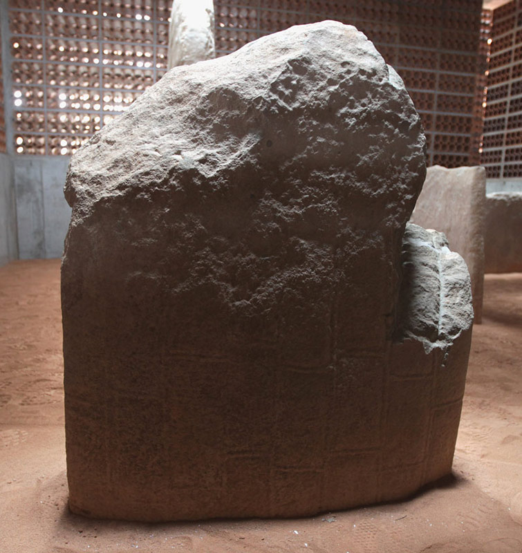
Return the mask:
<path id="1" fill-rule="evenodd" d="M 13 156 L 20 259 L 61 257 L 71 218 L 68 156 Z"/>

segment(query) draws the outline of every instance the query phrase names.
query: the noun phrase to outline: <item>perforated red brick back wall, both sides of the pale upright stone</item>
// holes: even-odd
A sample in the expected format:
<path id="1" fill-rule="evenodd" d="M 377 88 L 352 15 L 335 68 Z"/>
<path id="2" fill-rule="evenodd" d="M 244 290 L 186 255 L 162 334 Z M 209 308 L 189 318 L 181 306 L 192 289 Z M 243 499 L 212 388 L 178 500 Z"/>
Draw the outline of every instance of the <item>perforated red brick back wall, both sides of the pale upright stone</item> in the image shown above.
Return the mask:
<path id="1" fill-rule="evenodd" d="M 429 164 L 478 162 L 481 0 L 214 6 L 218 55 L 295 24 L 354 24 L 402 75 L 425 124 Z M 72 153 L 156 82 L 165 73 L 169 8 L 170 0 L 10 0 L 15 151 Z"/>

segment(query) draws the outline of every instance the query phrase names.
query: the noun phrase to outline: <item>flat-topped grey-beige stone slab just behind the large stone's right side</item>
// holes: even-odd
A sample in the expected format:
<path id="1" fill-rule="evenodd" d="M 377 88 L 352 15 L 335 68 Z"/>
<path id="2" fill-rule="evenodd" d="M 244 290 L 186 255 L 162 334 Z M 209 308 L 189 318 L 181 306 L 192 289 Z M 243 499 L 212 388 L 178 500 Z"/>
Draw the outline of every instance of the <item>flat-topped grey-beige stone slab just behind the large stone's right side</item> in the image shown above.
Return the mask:
<path id="1" fill-rule="evenodd" d="M 474 321 L 482 320 L 484 287 L 484 167 L 428 167 L 412 223 L 443 232 L 463 256 L 472 279 Z"/>

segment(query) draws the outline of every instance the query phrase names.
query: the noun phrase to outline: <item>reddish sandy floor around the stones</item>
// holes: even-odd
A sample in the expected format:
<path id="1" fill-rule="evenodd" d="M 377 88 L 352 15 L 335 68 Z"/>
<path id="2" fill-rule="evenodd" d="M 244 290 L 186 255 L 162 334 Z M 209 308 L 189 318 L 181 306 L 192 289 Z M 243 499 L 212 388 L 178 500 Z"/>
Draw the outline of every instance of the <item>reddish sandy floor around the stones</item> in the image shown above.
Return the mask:
<path id="1" fill-rule="evenodd" d="M 522 552 L 522 274 L 486 277 L 454 478 L 314 518 L 144 525 L 70 514 L 61 339 L 59 262 L 0 268 L 1 552 Z"/>

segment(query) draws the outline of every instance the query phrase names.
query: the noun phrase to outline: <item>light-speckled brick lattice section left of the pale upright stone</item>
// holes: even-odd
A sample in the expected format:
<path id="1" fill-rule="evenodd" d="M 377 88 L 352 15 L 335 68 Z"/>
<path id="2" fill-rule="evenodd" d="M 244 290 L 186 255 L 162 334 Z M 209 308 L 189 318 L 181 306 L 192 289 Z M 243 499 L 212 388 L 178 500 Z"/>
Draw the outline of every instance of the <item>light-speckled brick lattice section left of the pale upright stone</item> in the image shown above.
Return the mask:
<path id="1" fill-rule="evenodd" d="M 169 0 L 10 0 L 15 151 L 73 153 L 166 71 Z"/>

